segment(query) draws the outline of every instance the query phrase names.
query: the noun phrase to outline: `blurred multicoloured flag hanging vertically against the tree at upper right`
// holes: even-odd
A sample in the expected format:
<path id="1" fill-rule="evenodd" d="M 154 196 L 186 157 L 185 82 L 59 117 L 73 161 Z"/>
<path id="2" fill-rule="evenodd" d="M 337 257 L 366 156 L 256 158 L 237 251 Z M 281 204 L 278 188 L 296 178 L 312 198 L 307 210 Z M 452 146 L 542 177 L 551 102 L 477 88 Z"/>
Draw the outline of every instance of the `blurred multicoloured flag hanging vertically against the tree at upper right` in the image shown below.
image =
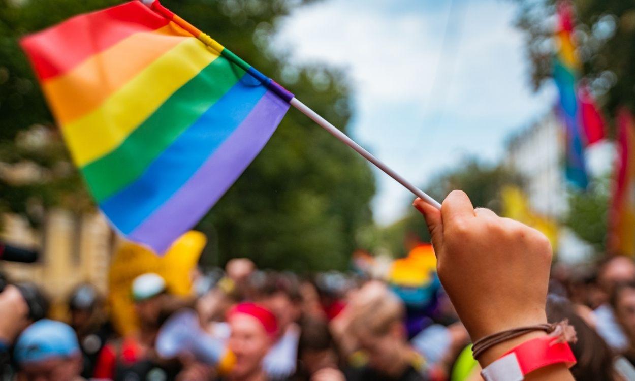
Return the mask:
<path id="1" fill-rule="evenodd" d="M 562 1 L 558 4 L 559 27 L 556 42 L 559 46 L 554 58 L 553 77 L 560 94 L 559 116 L 565 125 L 565 172 L 573 185 L 585 189 L 589 184 L 584 148 L 604 138 L 604 121 L 589 91 L 578 86 L 580 62 L 573 42 L 572 8 Z"/>

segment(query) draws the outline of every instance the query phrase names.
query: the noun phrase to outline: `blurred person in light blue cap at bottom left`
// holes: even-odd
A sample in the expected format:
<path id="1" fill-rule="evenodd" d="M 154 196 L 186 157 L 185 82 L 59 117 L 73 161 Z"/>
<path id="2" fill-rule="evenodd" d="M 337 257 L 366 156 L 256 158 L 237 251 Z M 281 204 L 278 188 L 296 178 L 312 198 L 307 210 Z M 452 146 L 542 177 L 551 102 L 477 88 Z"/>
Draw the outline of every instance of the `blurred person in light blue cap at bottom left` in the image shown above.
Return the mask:
<path id="1" fill-rule="evenodd" d="M 14 349 L 18 381 L 83 380 L 75 332 L 67 324 L 41 319 L 18 337 Z"/>

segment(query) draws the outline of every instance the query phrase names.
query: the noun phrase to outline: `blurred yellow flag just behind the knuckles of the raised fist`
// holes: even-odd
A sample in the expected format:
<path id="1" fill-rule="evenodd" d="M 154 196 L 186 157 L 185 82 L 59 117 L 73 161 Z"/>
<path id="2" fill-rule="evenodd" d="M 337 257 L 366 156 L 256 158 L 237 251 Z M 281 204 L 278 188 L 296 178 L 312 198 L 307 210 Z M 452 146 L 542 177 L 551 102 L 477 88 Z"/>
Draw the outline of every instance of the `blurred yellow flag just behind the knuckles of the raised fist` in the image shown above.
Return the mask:
<path id="1" fill-rule="evenodd" d="M 501 192 L 504 217 L 512 218 L 542 232 L 554 252 L 558 249 L 558 224 L 549 217 L 544 217 L 531 210 L 527 196 L 516 186 L 504 187 Z"/>

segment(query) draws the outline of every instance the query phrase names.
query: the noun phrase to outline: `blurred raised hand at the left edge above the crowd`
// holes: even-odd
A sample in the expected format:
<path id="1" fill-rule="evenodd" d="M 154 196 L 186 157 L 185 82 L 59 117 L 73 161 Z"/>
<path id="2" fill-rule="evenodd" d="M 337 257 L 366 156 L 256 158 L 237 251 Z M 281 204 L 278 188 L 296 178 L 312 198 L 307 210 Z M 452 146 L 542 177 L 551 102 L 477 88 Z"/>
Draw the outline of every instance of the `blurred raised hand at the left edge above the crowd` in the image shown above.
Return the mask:
<path id="1" fill-rule="evenodd" d="M 29 324 L 29 305 L 13 284 L 0 293 L 0 340 L 11 344 Z"/>

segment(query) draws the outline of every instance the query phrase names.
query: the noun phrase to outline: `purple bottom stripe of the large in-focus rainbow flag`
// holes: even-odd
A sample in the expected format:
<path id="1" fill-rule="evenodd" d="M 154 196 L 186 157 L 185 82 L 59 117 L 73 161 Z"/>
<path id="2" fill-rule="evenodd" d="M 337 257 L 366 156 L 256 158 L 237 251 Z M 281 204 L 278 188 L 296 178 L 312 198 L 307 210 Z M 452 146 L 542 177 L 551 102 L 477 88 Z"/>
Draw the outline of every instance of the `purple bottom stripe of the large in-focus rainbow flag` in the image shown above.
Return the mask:
<path id="1" fill-rule="evenodd" d="M 289 104 L 267 91 L 225 142 L 177 192 L 130 233 L 164 253 L 231 187 L 276 130 Z"/>

